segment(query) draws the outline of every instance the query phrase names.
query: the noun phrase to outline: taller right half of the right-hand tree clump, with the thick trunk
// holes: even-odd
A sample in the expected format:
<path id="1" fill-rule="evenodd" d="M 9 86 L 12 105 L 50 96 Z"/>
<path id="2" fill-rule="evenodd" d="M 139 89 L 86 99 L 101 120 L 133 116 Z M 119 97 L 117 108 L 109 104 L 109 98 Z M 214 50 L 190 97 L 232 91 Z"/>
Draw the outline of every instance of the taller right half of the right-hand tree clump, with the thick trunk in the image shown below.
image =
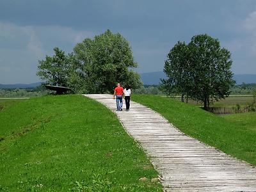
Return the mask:
<path id="1" fill-rule="evenodd" d="M 210 102 L 224 99 L 234 86 L 231 72 L 231 54 L 220 47 L 220 42 L 209 35 L 195 35 L 188 45 L 193 63 L 195 86 L 191 97 L 204 102 L 204 109 Z"/>

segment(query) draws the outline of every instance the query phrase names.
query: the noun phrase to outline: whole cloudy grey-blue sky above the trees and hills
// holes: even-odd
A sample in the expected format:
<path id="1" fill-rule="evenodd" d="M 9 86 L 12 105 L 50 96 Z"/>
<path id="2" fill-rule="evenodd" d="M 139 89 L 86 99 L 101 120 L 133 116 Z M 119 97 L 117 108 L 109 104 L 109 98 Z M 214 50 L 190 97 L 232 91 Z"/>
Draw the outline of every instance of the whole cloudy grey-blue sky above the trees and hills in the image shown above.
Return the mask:
<path id="1" fill-rule="evenodd" d="M 162 71 L 177 43 L 207 33 L 232 53 L 234 74 L 256 74 L 255 0 L 1 0 L 0 83 L 35 83 L 38 60 L 72 52 L 110 29 L 130 43 L 138 72 Z"/>

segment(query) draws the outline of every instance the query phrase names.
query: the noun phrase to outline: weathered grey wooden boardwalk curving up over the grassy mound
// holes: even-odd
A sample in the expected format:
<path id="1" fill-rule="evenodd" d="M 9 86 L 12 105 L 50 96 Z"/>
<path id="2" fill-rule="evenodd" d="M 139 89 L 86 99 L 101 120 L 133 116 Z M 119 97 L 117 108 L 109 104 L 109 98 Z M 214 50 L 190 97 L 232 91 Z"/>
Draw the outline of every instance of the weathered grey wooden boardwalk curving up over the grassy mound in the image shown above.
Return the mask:
<path id="1" fill-rule="evenodd" d="M 112 95 L 86 96 L 117 112 L 146 150 L 164 191 L 256 191 L 256 168 L 189 138 L 151 109 L 131 102 L 131 111 L 116 111 Z"/>

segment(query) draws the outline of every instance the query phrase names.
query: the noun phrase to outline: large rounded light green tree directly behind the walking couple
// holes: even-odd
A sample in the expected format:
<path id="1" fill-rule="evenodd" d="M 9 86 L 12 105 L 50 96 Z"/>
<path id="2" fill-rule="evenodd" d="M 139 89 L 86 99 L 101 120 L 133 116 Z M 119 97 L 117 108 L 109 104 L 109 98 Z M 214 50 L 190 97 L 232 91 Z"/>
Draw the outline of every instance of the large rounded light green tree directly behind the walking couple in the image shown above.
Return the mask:
<path id="1" fill-rule="evenodd" d="M 86 38 L 74 47 L 72 74 L 68 84 L 76 92 L 113 92 L 116 83 L 141 86 L 129 43 L 120 33 L 106 31 L 93 39 Z"/>

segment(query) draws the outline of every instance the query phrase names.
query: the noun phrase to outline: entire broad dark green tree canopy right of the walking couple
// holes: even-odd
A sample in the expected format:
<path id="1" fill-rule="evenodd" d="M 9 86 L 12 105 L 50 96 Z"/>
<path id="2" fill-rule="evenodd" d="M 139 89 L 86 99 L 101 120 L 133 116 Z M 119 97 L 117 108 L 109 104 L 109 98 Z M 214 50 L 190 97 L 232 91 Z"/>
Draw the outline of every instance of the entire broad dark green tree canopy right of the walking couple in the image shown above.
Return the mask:
<path id="1" fill-rule="evenodd" d="M 195 35 L 188 45 L 177 42 L 167 58 L 164 72 L 168 79 L 162 79 L 164 91 L 202 101 L 205 109 L 210 102 L 227 97 L 235 84 L 230 52 L 209 35 Z"/>

